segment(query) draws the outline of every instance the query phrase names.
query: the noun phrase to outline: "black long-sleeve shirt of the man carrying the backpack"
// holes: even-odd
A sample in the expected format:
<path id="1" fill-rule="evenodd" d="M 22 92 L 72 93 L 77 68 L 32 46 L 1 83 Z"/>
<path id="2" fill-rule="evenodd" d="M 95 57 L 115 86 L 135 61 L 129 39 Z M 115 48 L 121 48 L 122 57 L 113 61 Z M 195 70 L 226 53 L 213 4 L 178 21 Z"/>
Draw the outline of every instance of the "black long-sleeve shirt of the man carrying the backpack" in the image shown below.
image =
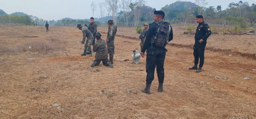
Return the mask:
<path id="1" fill-rule="evenodd" d="M 163 21 L 158 21 L 158 22 L 161 23 Z M 151 38 L 153 36 L 156 36 L 156 33 L 157 33 L 157 23 L 153 22 L 148 28 L 147 36 L 146 36 L 146 39 L 144 41 L 141 52 L 144 53 L 146 51 L 146 49 L 148 49 L 148 46 L 151 45 Z M 173 33 L 172 33 L 172 27 L 171 27 L 168 42 L 170 42 L 172 39 L 173 39 Z"/>

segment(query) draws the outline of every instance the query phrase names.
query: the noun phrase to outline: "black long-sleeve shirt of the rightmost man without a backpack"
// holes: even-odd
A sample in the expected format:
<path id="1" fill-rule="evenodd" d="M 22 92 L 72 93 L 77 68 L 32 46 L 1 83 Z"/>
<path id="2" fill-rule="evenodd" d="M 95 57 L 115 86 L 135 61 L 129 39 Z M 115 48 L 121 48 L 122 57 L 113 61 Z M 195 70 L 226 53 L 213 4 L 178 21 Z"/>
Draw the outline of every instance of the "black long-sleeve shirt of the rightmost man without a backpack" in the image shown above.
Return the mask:
<path id="1" fill-rule="evenodd" d="M 212 31 L 207 23 L 199 23 L 197 26 L 195 40 L 198 41 L 203 39 L 203 41 L 207 41 L 207 38 L 212 34 Z"/>

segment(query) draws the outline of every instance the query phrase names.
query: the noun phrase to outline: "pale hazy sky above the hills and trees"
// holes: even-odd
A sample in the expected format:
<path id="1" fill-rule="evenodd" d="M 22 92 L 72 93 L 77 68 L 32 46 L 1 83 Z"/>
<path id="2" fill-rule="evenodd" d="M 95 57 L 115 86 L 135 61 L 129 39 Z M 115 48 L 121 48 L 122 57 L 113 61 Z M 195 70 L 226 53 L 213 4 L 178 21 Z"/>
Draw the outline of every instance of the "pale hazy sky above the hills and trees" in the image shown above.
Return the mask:
<path id="1" fill-rule="evenodd" d="M 28 15 L 33 15 L 45 20 L 58 20 L 69 17 L 73 19 L 88 19 L 93 16 L 91 11 L 91 3 L 95 1 L 96 4 L 104 2 L 105 0 L 0 0 L 0 9 L 7 14 L 14 12 L 23 12 Z M 120 0 L 119 0 L 120 1 Z M 133 0 L 135 1 L 135 0 Z M 146 5 L 160 10 L 163 6 L 169 5 L 177 0 L 145 0 Z M 158 1 L 158 2 L 155 2 Z M 195 2 L 195 0 L 180 0 Z M 227 8 L 231 2 L 238 3 L 240 0 L 207 0 L 209 6 L 221 5 L 222 9 Z M 242 0 L 256 4 L 255 0 Z M 99 8 L 99 7 L 98 7 Z M 105 12 L 106 14 L 106 12 Z M 96 9 L 94 17 L 99 17 L 99 10 Z"/>

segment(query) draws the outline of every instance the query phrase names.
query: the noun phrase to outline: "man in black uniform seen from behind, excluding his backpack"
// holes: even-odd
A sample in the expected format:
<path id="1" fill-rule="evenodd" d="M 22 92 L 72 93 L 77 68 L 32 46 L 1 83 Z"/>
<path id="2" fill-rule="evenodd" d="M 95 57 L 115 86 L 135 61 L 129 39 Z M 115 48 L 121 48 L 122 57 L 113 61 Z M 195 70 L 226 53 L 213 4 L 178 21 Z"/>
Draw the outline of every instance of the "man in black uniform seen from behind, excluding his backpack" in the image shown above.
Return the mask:
<path id="1" fill-rule="evenodd" d="M 145 56 L 145 51 L 147 50 L 146 57 L 146 87 L 141 91 L 146 94 L 151 94 L 150 86 L 154 80 L 155 67 L 158 77 L 158 92 L 163 91 L 163 79 L 165 78 L 163 64 L 165 62 L 165 55 L 167 49 L 165 47 L 157 47 L 154 43 L 151 42 L 151 39 L 156 36 L 157 26 L 159 23 L 163 22 L 165 13 L 163 11 L 154 11 L 154 21 L 148 28 L 146 39 L 144 41 L 143 47 L 141 49 L 141 56 Z M 173 39 L 172 28 L 170 27 L 169 39 L 168 42 Z"/>

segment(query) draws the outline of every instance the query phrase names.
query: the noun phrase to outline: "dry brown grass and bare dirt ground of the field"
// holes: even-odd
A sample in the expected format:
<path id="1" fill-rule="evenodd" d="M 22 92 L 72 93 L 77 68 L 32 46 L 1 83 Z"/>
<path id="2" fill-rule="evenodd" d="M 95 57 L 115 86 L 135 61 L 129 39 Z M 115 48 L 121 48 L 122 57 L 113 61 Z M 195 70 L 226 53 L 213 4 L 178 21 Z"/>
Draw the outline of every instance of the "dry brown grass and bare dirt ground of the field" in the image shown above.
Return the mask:
<path id="1" fill-rule="evenodd" d="M 94 56 L 80 56 L 84 46 L 76 27 L 0 29 L 0 118 L 256 119 L 255 36 L 210 36 L 203 71 L 195 73 L 188 70 L 194 36 L 176 27 L 167 46 L 164 91 L 157 92 L 155 73 L 148 95 L 140 91 L 146 58 L 138 65 L 122 61 L 140 47 L 135 28 L 118 27 L 114 68 L 90 67 Z M 98 30 L 106 39 L 107 28 Z"/>

